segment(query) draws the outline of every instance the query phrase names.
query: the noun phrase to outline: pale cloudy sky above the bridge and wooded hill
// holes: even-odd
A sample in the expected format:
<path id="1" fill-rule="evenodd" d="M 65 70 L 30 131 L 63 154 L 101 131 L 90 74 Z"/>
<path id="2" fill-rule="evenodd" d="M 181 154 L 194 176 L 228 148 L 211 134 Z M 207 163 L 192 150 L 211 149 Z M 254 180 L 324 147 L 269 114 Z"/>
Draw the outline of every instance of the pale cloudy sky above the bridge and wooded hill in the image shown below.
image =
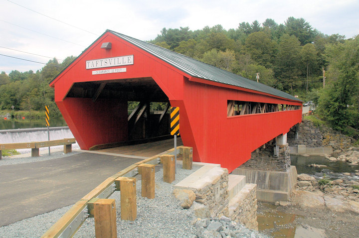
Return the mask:
<path id="1" fill-rule="evenodd" d="M 293 16 L 351 38 L 359 34 L 358 12 L 359 0 L 0 0 L 0 72 L 35 72 L 53 57 L 78 56 L 106 29 L 151 40 L 164 27 L 228 30 Z"/>

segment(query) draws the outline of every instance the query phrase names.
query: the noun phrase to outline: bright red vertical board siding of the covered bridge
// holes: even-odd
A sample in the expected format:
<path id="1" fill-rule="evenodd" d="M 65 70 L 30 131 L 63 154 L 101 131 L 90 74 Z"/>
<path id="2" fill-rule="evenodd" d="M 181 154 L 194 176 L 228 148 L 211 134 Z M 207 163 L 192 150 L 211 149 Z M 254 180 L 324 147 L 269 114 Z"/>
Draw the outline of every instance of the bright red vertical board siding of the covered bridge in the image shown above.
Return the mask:
<path id="1" fill-rule="evenodd" d="M 101 49 L 103 42 L 111 42 L 112 49 Z M 85 68 L 86 60 L 125 55 L 134 55 L 134 64 L 116 67 L 126 67 L 123 73 L 92 75 Z M 191 76 L 106 31 L 50 83 L 55 102 L 82 149 L 128 140 L 127 101 L 66 97 L 73 84 L 136 78 L 152 78 L 171 106 L 180 108 L 180 135 L 185 146 L 193 147 L 193 161 L 220 163 L 229 171 L 248 160 L 253 150 L 301 122 L 301 110 L 227 118 L 227 100 L 299 106 L 302 102 L 271 95 L 270 90 L 260 92 Z"/>

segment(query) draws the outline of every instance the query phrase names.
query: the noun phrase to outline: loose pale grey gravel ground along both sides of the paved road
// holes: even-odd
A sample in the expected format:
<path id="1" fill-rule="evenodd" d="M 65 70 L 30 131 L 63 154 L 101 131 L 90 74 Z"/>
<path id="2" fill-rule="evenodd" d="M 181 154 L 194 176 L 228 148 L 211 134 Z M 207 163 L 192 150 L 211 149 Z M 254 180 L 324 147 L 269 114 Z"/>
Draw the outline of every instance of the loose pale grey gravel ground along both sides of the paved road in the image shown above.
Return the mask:
<path id="1" fill-rule="evenodd" d="M 79 153 L 79 152 L 72 152 Z M 55 159 L 64 156 L 61 152 L 54 152 L 51 156 L 41 156 L 31 162 Z M 67 155 L 66 155 L 67 156 Z M 4 159 L 17 161 L 21 163 L 21 159 Z M 28 158 L 27 158 L 28 159 Z M 29 162 L 29 161 L 27 161 Z M 7 161 L 6 161 L 7 163 Z M 156 196 L 155 199 L 147 199 L 141 197 L 141 180 L 137 181 L 137 219 L 135 221 L 122 221 L 120 212 L 120 192 L 114 192 L 110 198 L 116 200 L 117 213 L 117 234 L 121 238 L 168 238 L 168 237 L 208 237 L 201 235 L 202 230 L 193 226 L 193 217 L 189 210 L 184 210 L 179 206 L 179 201 L 173 196 L 173 185 L 184 179 L 186 176 L 194 172 L 200 166 L 193 166 L 192 170 L 183 170 L 177 168 L 176 180 L 172 184 L 163 182 L 163 170 L 156 172 Z M 71 206 L 57 209 L 53 212 L 45 213 L 36 217 L 24 219 L 22 221 L 0 227 L 0 238 L 34 238 L 41 237 L 63 214 L 65 214 Z M 192 222 L 192 223 L 191 223 Z M 258 232 L 245 229 L 240 224 L 237 225 L 240 230 L 235 237 L 266 237 Z M 94 219 L 88 218 L 75 234 L 75 238 L 91 238 L 95 237 Z"/>

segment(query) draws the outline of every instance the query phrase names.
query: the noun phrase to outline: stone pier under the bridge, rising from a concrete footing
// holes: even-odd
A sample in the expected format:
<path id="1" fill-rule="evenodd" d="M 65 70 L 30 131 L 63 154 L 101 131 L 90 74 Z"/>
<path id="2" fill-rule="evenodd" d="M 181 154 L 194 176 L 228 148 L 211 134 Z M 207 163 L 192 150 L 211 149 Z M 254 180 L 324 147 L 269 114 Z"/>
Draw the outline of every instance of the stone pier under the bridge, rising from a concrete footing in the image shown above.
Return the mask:
<path id="1" fill-rule="evenodd" d="M 251 159 L 242 164 L 240 168 L 252 168 L 270 171 L 287 171 L 291 166 L 290 149 L 288 144 L 279 147 L 279 156 L 274 157 L 275 146 L 266 144 L 265 148 L 260 147 L 258 152 L 253 151 Z"/>

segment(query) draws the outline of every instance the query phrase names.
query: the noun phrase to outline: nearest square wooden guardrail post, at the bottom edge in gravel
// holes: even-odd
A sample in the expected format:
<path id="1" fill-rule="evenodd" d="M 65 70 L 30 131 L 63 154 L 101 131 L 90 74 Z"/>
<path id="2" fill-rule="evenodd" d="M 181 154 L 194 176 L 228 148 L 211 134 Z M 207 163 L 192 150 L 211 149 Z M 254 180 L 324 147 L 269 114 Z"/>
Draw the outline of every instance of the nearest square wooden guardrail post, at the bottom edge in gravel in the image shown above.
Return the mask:
<path id="1" fill-rule="evenodd" d="M 115 199 L 98 199 L 94 217 L 96 238 L 117 238 Z"/>

